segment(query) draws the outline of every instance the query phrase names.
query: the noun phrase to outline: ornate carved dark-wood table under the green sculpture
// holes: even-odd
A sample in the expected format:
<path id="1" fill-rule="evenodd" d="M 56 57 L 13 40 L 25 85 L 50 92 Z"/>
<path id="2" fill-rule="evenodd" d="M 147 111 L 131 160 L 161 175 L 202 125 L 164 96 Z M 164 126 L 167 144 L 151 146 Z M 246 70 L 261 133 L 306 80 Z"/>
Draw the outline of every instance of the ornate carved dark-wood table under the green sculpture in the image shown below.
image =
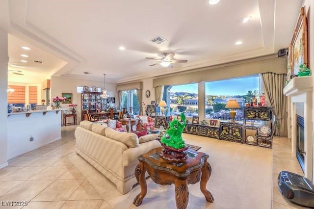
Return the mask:
<path id="1" fill-rule="evenodd" d="M 211 174 L 209 155 L 193 150 L 187 150 L 187 160 L 184 163 L 167 163 L 161 157 L 162 147 L 155 148 L 138 157 L 139 164 L 135 168 L 135 177 L 141 186 L 141 192 L 134 198 L 133 204 L 139 206 L 147 193 L 145 172 L 147 171 L 155 183 L 162 185 L 175 184 L 175 196 L 178 209 L 185 209 L 188 204 L 187 184 L 198 183 L 201 180 L 201 191 L 205 199 L 212 203 L 214 198 L 206 189 Z"/>

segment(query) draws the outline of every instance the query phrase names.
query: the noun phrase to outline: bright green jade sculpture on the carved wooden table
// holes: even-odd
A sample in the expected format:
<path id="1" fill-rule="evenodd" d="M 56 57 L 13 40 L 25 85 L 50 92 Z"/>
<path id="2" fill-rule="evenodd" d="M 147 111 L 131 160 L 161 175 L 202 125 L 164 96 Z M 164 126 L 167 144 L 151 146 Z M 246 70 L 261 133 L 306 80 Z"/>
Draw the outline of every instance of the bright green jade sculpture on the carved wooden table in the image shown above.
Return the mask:
<path id="1" fill-rule="evenodd" d="M 182 123 L 176 118 L 169 123 L 169 129 L 167 129 L 166 134 L 160 139 L 161 143 L 178 150 L 185 147 L 182 139 L 182 131 L 186 125 L 183 112 L 181 113 L 181 119 Z"/>

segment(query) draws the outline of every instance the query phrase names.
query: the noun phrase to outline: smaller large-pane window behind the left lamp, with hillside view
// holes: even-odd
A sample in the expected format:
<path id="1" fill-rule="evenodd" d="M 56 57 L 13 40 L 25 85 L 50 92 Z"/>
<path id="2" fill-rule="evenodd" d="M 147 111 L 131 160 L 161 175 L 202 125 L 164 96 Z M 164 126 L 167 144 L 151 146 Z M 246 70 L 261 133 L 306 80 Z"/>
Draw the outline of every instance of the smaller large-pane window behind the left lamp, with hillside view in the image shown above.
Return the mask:
<path id="1" fill-rule="evenodd" d="M 185 116 L 198 116 L 198 83 L 169 86 L 165 89 L 170 91 L 170 99 L 165 101 L 168 105 L 170 103 L 171 115 L 184 112 Z"/>

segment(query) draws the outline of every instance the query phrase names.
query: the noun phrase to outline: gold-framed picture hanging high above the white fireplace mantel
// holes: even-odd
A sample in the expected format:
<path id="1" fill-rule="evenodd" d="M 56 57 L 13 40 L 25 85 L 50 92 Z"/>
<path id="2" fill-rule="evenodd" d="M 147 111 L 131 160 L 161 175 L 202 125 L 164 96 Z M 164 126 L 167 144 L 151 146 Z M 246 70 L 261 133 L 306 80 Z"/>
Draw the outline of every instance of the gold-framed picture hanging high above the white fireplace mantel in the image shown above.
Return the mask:
<path id="1" fill-rule="evenodd" d="M 289 48 L 292 74 L 297 75 L 301 64 L 308 66 L 308 27 L 305 6 L 300 9 L 300 16 Z"/>

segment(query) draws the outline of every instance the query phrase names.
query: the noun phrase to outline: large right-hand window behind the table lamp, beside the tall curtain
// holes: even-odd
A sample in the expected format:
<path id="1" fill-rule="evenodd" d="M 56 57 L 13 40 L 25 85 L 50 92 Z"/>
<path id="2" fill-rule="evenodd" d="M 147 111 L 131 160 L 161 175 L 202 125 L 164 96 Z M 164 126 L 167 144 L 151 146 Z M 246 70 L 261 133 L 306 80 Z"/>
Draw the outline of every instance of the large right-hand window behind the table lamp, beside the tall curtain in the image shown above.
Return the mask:
<path id="1" fill-rule="evenodd" d="M 262 95 L 260 83 L 259 75 L 206 82 L 206 118 L 230 120 L 229 109 L 225 105 L 229 99 L 235 99 L 241 107 L 235 109 L 235 120 L 243 120 L 243 106 L 251 103 L 253 95 L 259 102 L 259 95 Z"/>

